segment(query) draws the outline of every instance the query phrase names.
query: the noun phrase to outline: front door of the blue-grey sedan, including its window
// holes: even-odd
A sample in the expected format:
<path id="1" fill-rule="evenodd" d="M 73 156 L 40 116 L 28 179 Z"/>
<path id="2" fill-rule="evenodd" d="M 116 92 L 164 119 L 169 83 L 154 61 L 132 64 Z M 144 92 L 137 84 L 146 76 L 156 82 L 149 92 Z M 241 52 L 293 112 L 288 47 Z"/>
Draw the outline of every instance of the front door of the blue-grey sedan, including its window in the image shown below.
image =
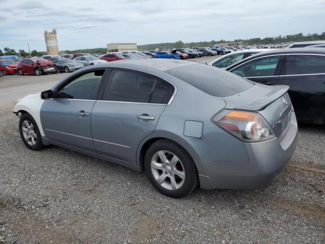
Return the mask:
<path id="1" fill-rule="evenodd" d="M 90 117 L 105 69 L 91 69 L 70 77 L 44 100 L 41 124 L 51 141 L 94 151 Z"/>

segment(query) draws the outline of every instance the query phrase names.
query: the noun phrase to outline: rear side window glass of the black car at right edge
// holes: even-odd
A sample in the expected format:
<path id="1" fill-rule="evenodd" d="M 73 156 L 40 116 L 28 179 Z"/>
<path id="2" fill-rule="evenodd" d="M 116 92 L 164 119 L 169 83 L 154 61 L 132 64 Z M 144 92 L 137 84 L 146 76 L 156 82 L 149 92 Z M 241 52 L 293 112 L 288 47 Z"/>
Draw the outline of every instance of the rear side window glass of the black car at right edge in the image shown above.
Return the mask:
<path id="1" fill-rule="evenodd" d="M 286 55 L 284 75 L 325 73 L 325 56 Z"/>

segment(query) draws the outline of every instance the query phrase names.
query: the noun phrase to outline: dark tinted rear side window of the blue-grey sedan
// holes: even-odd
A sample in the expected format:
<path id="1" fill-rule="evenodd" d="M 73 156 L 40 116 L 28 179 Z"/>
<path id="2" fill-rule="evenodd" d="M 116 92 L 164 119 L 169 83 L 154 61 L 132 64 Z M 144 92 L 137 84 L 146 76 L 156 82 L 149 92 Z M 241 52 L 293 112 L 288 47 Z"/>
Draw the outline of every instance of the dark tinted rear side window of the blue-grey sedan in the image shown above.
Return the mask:
<path id="1" fill-rule="evenodd" d="M 103 100 L 167 104 L 173 93 L 174 87 L 166 81 L 132 71 L 113 70 Z"/>

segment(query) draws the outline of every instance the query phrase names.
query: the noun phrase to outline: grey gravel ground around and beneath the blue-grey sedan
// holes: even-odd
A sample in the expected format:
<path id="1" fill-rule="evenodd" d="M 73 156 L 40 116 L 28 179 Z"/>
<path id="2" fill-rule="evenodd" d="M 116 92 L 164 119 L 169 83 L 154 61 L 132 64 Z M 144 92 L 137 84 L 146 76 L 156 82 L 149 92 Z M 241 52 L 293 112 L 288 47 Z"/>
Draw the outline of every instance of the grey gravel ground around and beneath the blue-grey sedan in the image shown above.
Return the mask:
<path id="1" fill-rule="evenodd" d="M 325 242 L 324 127 L 300 125 L 296 153 L 269 188 L 172 199 L 145 173 L 24 146 L 13 101 L 64 75 L 0 78 L 0 243 Z"/>

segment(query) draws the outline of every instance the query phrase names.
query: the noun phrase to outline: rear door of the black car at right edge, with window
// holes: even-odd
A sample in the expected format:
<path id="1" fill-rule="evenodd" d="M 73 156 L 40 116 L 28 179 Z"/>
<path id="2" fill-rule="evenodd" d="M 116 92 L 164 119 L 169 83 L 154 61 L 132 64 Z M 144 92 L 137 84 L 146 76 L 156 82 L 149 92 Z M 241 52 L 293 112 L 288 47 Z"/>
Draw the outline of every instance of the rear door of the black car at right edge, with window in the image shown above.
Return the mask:
<path id="1" fill-rule="evenodd" d="M 325 55 L 286 54 L 277 84 L 288 94 L 300 121 L 325 122 Z"/>

